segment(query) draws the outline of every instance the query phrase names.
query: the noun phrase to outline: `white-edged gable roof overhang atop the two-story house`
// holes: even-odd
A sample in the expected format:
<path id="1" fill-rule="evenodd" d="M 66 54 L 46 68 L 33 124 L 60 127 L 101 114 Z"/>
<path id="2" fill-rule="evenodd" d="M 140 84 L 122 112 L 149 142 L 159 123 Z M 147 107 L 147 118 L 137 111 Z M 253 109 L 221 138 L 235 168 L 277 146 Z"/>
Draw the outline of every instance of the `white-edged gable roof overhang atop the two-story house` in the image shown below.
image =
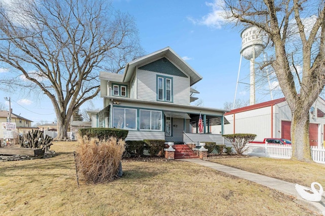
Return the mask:
<path id="1" fill-rule="evenodd" d="M 149 55 L 140 57 L 126 64 L 123 74 L 123 82 L 129 82 L 135 72 L 137 66 L 150 63 L 159 58 L 166 57 L 180 69 L 182 69 L 187 75 L 189 75 L 190 85 L 193 85 L 202 79 L 202 76 L 192 69 L 180 56 L 178 56 L 170 47 L 158 50 Z"/>

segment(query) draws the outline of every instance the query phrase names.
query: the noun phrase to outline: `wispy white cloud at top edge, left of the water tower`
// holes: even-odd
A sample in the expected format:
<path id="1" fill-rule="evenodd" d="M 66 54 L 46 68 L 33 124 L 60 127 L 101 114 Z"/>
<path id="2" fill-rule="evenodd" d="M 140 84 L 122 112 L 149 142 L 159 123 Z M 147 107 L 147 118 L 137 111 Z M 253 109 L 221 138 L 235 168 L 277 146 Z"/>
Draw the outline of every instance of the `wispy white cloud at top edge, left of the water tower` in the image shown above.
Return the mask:
<path id="1" fill-rule="evenodd" d="M 221 26 L 225 22 L 225 12 L 222 8 L 224 5 L 223 1 L 221 0 L 214 0 L 214 2 L 205 3 L 208 7 L 212 8 L 212 12 L 208 13 L 207 15 L 203 16 L 201 19 L 194 19 L 192 17 L 187 17 L 187 19 L 192 22 L 194 25 L 206 25 L 213 28 L 221 28 Z"/>

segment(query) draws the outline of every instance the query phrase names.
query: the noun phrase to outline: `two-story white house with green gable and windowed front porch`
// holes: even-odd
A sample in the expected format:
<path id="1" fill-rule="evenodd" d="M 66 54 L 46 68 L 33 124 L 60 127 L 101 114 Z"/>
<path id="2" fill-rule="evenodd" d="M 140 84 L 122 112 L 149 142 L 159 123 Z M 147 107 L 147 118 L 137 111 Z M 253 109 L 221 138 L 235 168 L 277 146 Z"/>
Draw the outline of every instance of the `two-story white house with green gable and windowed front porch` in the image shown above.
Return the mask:
<path id="1" fill-rule="evenodd" d="M 225 110 L 190 105 L 199 93 L 191 87 L 201 79 L 169 47 L 127 63 L 123 74 L 101 72 L 104 109 L 88 111 L 92 127 L 128 129 L 126 140 L 223 143 Z M 197 133 L 200 113 L 203 134 Z M 217 135 L 212 125 L 220 125 Z"/>

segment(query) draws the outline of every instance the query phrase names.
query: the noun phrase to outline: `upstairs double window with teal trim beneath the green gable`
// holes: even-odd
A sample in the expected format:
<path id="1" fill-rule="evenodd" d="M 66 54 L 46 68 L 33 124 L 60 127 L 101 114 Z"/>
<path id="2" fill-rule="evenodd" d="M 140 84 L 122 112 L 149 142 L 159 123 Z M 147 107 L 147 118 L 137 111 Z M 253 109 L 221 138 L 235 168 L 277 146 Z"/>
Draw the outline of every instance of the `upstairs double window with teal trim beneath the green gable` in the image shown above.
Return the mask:
<path id="1" fill-rule="evenodd" d="M 173 78 L 157 75 L 157 101 L 173 102 Z"/>

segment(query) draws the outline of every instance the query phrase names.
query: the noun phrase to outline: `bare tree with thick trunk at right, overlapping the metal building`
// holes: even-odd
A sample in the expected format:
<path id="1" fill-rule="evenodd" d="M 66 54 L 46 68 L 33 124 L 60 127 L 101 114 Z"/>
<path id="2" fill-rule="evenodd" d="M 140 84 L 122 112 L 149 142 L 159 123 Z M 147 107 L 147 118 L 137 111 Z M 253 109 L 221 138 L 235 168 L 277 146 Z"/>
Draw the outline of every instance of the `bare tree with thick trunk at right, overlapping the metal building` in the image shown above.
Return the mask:
<path id="1" fill-rule="evenodd" d="M 325 83 L 323 1 L 224 1 L 226 17 L 236 25 L 256 26 L 268 36 L 271 65 L 291 109 L 292 159 L 312 161 L 309 109 Z M 302 68 L 300 72 L 298 67 Z"/>

